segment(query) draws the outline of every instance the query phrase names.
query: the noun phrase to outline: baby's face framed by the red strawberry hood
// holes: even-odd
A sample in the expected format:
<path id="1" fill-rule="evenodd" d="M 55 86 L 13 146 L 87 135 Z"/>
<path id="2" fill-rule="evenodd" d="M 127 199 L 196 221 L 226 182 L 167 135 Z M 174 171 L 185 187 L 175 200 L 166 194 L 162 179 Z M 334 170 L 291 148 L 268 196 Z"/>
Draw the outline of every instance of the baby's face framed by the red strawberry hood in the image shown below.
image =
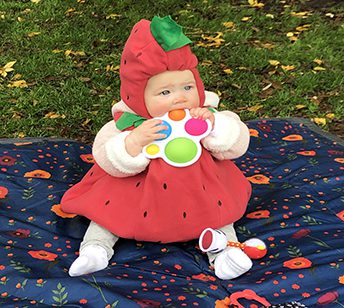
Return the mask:
<path id="1" fill-rule="evenodd" d="M 144 99 L 153 118 L 175 109 L 198 107 L 199 96 L 193 73 L 190 70 L 165 71 L 154 75 L 147 82 Z"/>

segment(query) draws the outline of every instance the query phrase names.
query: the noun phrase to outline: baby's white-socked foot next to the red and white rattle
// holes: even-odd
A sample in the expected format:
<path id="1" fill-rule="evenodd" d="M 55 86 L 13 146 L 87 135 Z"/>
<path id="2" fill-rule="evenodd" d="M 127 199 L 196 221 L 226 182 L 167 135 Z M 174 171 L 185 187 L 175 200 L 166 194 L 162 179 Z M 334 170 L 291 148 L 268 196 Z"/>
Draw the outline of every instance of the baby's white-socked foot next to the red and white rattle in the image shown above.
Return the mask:
<path id="1" fill-rule="evenodd" d="M 215 275 L 220 279 L 234 279 L 252 267 L 251 259 L 239 248 L 227 248 L 214 262 Z"/>

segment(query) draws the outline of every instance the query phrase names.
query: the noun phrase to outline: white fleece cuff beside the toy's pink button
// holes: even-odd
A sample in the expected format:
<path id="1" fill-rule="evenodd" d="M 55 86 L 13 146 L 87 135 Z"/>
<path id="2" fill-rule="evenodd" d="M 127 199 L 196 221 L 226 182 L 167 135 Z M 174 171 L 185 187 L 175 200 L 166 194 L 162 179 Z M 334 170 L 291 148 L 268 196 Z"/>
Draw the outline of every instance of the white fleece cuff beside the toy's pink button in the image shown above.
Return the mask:
<path id="1" fill-rule="evenodd" d="M 228 151 L 240 137 L 240 122 L 218 112 L 214 116 L 214 129 L 203 139 L 203 146 L 213 153 Z"/>

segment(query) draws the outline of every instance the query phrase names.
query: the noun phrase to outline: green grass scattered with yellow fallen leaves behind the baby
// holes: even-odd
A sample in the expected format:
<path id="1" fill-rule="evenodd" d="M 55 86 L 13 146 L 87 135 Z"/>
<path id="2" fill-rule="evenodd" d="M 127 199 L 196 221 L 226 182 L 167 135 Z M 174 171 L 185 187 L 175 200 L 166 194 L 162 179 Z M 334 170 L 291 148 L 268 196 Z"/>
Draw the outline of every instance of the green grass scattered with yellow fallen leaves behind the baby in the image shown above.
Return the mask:
<path id="1" fill-rule="evenodd" d="M 244 120 L 324 118 L 324 129 L 343 136 L 340 1 L 331 6 L 323 1 L 316 9 L 312 0 L 261 2 L 265 6 L 257 9 L 238 0 L 0 1 L 0 68 L 16 61 L 14 71 L 0 77 L 0 137 L 91 142 L 111 119 L 112 103 L 120 99 L 118 70 L 107 67 L 119 65 L 132 26 L 154 15 L 171 15 L 184 26 L 194 41 L 206 89 L 221 93 L 221 108 Z M 303 18 L 293 12 L 308 13 Z M 224 22 L 234 26 L 226 28 Z M 304 25 L 309 26 L 296 30 Z M 202 35 L 218 32 L 224 41 L 207 46 Z M 292 42 L 288 32 L 297 40 Z M 200 42 L 206 46 L 198 46 Z M 280 64 L 275 67 L 269 60 Z M 294 69 L 283 70 L 282 65 Z M 317 66 L 324 70 L 314 70 Z M 228 68 L 232 74 L 224 72 Z M 15 80 L 28 86 L 8 87 Z"/>

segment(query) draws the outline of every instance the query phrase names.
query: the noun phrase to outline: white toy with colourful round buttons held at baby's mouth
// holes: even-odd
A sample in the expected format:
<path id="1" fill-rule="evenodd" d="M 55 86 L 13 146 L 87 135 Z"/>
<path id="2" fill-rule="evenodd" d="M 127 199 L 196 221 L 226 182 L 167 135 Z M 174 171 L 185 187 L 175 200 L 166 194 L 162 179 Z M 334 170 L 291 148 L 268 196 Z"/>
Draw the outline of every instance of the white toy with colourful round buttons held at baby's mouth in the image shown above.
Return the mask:
<path id="1" fill-rule="evenodd" d="M 174 167 L 195 163 L 202 153 L 200 141 L 209 135 L 211 122 L 191 117 L 188 109 L 172 110 L 157 119 L 162 120 L 161 125 L 167 126 L 159 131 L 166 137 L 146 145 L 142 153 L 150 159 L 162 158 Z"/>

